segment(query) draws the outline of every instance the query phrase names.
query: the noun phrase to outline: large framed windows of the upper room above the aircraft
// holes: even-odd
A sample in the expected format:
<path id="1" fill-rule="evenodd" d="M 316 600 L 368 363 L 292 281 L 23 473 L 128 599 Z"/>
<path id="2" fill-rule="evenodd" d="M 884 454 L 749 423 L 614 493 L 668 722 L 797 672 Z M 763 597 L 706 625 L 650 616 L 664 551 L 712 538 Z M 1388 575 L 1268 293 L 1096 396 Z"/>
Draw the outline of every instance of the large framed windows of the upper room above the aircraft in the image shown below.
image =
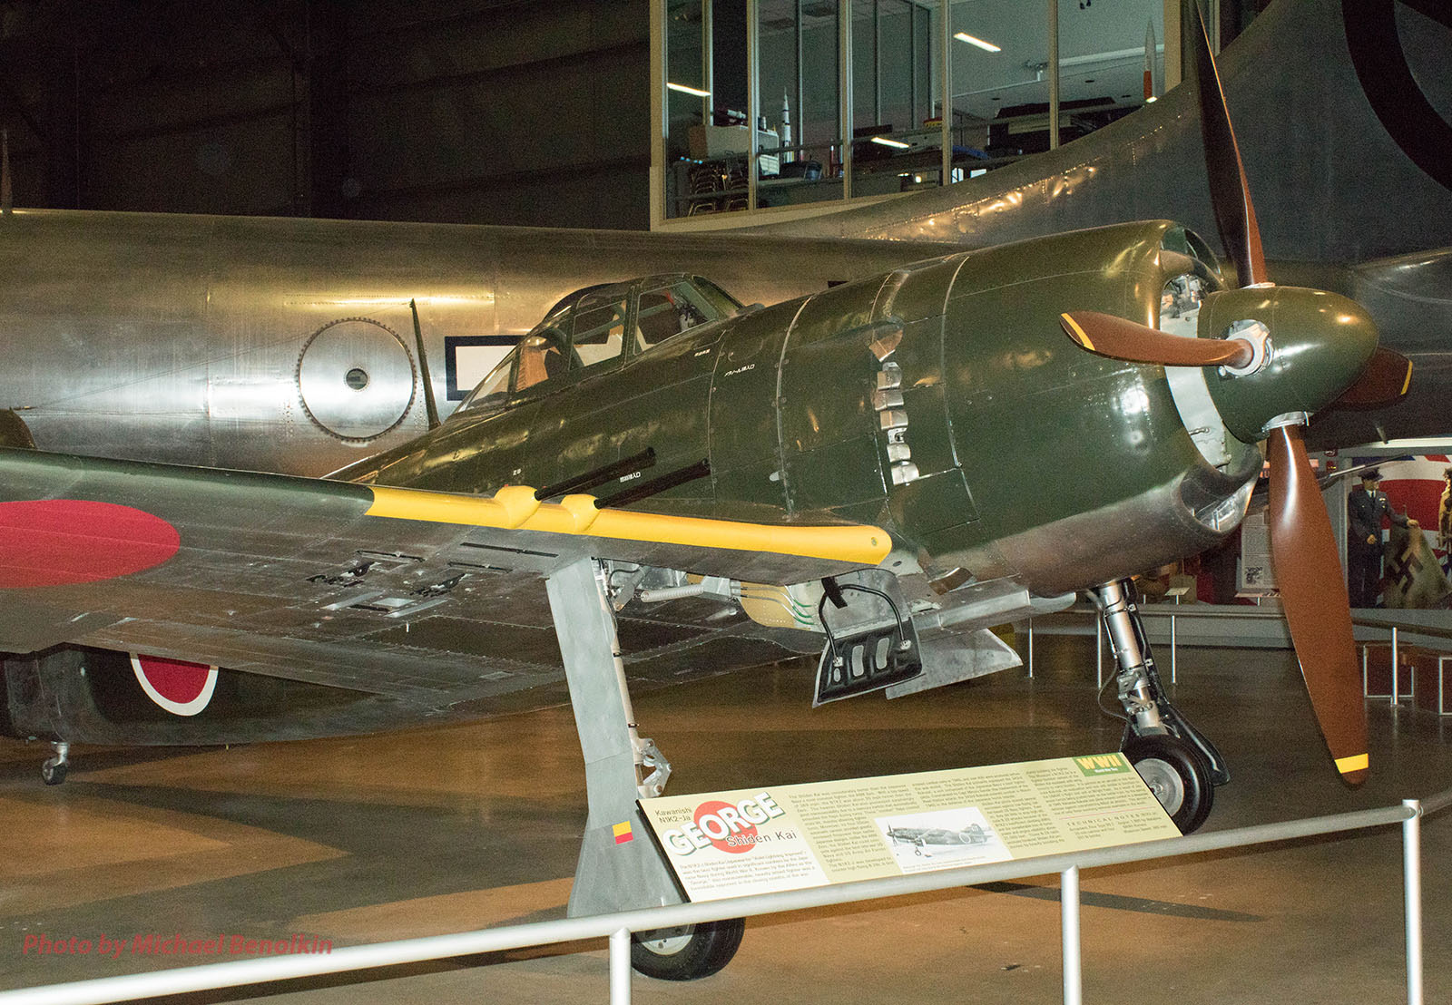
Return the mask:
<path id="1" fill-rule="evenodd" d="M 1163 89 L 1179 0 L 655 3 L 668 219 L 948 184 L 1086 135 Z"/>

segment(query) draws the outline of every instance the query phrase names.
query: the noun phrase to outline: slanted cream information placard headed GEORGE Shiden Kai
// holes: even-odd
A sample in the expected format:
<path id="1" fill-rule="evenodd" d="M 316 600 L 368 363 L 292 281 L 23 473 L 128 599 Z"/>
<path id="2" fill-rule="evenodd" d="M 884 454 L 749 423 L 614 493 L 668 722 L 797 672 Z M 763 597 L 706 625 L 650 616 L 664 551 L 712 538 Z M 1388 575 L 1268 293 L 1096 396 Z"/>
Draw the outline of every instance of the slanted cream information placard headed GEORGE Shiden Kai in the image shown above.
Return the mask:
<path id="1" fill-rule="evenodd" d="M 1122 754 L 642 799 L 691 900 L 1178 838 Z"/>

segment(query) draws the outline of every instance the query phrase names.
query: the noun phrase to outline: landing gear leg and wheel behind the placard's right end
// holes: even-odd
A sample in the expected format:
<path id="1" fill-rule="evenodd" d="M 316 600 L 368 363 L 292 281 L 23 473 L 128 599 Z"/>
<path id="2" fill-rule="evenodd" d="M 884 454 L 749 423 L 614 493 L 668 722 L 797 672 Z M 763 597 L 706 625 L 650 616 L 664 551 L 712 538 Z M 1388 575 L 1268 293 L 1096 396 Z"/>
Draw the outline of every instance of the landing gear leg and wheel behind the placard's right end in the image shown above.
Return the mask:
<path id="1" fill-rule="evenodd" d="M 1134 603 L 1134 584 L 1106 582 L 1093 595 L 1118 662 L 1115 684 L 1128 720 L 1119 746 L 1175 826 L 1189 834 L 1210 816 L 1215 786 L 1230 781 L 1225 758 L 1166 696 Z"/>

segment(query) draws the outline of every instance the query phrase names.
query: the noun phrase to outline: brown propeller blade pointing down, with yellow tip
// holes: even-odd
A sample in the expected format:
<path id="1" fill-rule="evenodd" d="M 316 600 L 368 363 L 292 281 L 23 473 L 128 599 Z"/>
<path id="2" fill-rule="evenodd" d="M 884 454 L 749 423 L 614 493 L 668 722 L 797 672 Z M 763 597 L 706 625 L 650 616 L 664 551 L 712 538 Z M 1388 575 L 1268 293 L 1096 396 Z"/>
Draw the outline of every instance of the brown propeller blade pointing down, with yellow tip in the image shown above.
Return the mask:
<path id="1" fill-rule="evenodd" d="M 1305 690 L 1336 770 L 1350 784 L 1366 778 L 1366 712 L 1352 642 L 1350 601 L 1331 521 L 1305 456 L 1300 426 L 1272 430 L 1270 561 Z"/>

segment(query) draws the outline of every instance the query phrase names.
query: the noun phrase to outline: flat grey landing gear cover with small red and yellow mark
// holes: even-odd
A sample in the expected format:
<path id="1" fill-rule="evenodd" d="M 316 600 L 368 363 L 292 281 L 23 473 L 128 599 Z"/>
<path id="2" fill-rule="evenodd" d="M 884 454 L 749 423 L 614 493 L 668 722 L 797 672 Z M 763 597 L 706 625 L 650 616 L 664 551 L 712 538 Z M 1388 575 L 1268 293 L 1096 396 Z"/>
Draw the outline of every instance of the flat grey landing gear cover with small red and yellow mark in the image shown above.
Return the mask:
<path id="1" fill-rule="evenodd" d="M 604 568 L 595 559 L 575 561 L 552 572 L 546 588 L 590 800 L 569 916 L 681 903 L 636 806 L 643 796 L 661 794 L 671 765 L 636 732 Z M 645 771 L 650 774 L 642 780 Z"/>

